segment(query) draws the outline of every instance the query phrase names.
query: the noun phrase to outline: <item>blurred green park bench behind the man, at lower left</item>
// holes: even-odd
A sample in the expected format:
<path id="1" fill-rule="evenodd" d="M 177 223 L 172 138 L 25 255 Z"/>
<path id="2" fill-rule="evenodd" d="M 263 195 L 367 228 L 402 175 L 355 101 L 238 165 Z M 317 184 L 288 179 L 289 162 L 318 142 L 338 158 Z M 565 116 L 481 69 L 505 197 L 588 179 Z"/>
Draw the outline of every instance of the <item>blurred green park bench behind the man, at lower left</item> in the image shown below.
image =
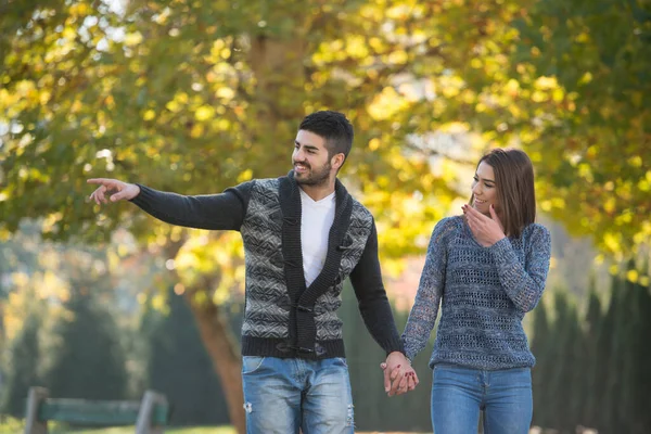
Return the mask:
<path id="1" fill-rule="evenodd" d="M 169 406 L 164 395 L 146 391 L 142 401 L 52 399 L 42 387 L 29 388 L 24 434 L 48 433 L 48 421 L 78 425 L 136 425 L 136 434 L 162 434 Z"/>

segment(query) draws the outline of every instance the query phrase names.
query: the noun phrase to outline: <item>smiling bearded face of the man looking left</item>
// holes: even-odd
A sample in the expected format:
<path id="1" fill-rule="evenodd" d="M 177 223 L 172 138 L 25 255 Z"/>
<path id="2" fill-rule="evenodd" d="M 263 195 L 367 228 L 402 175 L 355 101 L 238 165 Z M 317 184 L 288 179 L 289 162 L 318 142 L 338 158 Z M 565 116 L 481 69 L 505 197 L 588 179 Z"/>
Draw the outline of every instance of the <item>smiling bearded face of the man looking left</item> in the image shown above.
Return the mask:
<path id="1" fill-rule="evenodd" d="M 314 132 L 299 130 L 294 140 L 294 179 L 303 186 L 321 186 L 330 180 L 332 165 L 326 140 Z"/>

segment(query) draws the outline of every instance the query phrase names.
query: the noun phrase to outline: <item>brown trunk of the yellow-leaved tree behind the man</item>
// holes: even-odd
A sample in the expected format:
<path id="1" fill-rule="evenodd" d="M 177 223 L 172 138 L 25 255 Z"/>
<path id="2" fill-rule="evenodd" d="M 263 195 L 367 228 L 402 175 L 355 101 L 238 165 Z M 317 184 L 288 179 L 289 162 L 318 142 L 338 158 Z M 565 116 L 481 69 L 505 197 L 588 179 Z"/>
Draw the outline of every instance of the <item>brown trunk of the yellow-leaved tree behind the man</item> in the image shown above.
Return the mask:
<path id="1" fill-rule="evenodd" d="M 298 127 L 297 123 L 304 115 L 304 101 L 295 95 L 304 94 L 305 50 L 305 38 L 298 36 L 295 38 L 257 36 L 253 38 L 251 44 L 250 60 L 258 84 L 254 97 L 255 103 L 252 104 L 252 115 L 259 123 L 259 128 L 251 132 L 256 138 L 254 142 L 263 148 L 267 150 L 280 148 L 281 153 L 278 157 L 286 158 L 288 166 L 292 143 L 289 142 L 285 149 L 277 145 L 265 146 L 265 141 L 275 143 L 278 137 L 294 133 Z M 256 175 L 276 177 L 279 174 L 266 174 L 263 169 Z M 173 246 L 167 252 L 168 257 L 176 257 L 181 245 L 182 242 Z M 216 288 L 215 283 L 218 279 L 218 276 L 205 277 L 201 286 L 188 288 L 184 297 L 192 309 L 201 339 L 221 381 L 231 423 L 238 433 L 244 434 L 246 423 L 241 378 L 242 361 L 228 323 L 220 315 L 219 307 L 212 303 L 209 296 L 210 290 Z M 207 302 L 196 302 L 194 295 L 199 292 L 208 294 Z"/>

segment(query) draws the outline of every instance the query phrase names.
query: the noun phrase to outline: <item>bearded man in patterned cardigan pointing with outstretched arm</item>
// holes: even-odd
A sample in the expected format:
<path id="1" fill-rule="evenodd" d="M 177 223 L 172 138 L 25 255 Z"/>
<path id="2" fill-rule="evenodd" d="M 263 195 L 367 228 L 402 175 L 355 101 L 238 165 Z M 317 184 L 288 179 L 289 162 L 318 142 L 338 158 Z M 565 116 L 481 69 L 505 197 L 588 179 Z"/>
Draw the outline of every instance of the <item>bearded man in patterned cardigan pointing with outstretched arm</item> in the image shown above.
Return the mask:
<path id="1" fill-rule="evenodd" d="M 303 119 L 294 169 L 221 194 L 182 196 L 113 179 L 98 204 L 132 201 L 152 216 L 200 229 L 238 230 L 246 255 L 242 380 L 247 433 L 353 433 L 354 414 L 336 316 L 350 277 L 372 336 L 386 350 L 385 388 L 404 393 L 412 375 L 386 298 L 373 217 L 336 174 L 353 145 L 353 126 L 336 112 Z M 408 375 L 405 375 L 405 374 Z"/>

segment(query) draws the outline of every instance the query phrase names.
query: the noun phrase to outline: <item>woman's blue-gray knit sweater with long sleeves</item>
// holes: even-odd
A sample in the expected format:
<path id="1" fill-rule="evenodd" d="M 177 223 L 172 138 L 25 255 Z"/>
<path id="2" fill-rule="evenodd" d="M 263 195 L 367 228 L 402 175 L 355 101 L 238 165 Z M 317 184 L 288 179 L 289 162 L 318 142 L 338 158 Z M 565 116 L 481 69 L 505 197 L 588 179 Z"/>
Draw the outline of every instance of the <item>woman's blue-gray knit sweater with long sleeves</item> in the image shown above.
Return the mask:
<path id="1" fill-rule="evenodd" d="M 542 295 L 550 252 L 549 232 L 538 224 L 524 228 L 520 238 L 483 247 L 463 217 L 441 220 L 403 334 L 407 357 L 424 348 L 441 304 L 431 367 L 533 367 L 522 319 Z"/>

